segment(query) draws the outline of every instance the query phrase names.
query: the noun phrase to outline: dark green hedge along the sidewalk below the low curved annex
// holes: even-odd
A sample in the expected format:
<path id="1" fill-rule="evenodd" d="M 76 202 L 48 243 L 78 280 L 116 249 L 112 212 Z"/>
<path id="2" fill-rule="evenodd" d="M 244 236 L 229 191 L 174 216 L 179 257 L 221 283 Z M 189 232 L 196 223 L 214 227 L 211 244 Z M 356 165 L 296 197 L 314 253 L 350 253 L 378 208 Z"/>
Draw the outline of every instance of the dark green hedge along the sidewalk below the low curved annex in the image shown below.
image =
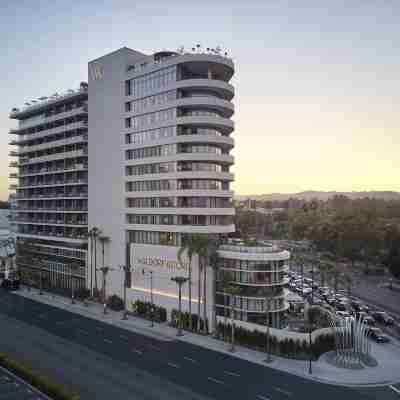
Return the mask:
<path id="1" fill-rule="evenodd" d="M 231 341 L 232 326 L 228 323 L 224 325 L 219 322 L 217 325 L 218 338 L 225 341 Z M 235 326 L 235 343 L 243 345 L 258 351 L 266 350 L 266 334 L 258 330 L 249 331 L 242 327 Z M 316 360 L 318 357 L 334 349 L 333 335 L 320 335 L 312 343 L 312 355 Z M 269 348 L 272 354 L 277 356 L 305 360 L 310 358 L 310 347 L 307 340 L 283 339 L 278 340 L 276 336 L 270 336 Z"/>

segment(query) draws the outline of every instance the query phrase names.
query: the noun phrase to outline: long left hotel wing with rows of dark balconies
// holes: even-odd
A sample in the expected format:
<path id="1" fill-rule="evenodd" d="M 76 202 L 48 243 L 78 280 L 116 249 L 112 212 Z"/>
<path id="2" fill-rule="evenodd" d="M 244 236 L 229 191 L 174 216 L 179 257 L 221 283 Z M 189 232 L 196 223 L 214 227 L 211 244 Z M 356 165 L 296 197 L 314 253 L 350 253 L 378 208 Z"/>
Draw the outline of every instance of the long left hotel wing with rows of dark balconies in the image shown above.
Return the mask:
<path id="1" fill-rule="evenodd" d="M 85 285 L 87 233 L 87 84 L 14 108 L 18 127 L 10 162 L 17 172 L 12 221 L 17 226 L 17 264 L 43 269 L 49 285 Z M 32 261 L 35 259 L 35 261 Z M 73 266 L 73 267 L 72 267 Z"/>

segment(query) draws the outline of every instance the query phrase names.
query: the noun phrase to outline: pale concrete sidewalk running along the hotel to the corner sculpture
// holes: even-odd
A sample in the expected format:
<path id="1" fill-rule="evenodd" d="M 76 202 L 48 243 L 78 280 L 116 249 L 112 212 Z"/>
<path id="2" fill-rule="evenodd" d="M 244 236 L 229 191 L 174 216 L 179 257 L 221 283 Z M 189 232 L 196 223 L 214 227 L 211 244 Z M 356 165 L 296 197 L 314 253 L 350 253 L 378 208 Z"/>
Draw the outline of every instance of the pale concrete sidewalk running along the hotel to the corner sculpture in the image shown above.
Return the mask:
<path id="1" fill-rule="evenodd" d="M 38 291 L 35 289 L 32 289 L 31 291 L 21 289 L 15 293 L 54 307 L 75 312 L 88 318 L 100 320 L 104 323 L 149 336 L 157 340 L 180 340 L 224 354 L 229 354 L 233 357 L 241 358 L 256 364 L 263 366 L 267 365 L 264 362 L 266 358 L 265 353 L 241 346 L 236 346 L 236 352 L 230 353 L 228 351 L 228 343 L 216 340 L 212 336 L 203 336 L 185 332 L 184 336 L 177 337 L 176 329 L 168 326 L 167 323 L 154 323 L 154 327 L 150 327 L 150 322 L 142 318 L 129 316 L 128 320 L 122 320 L 122 312 L 107 310 L 107 314 L 104 315 L 103 307 L 98 303 L 89 303 L 89 306 L 84 306 L 83 303 L 76 301 L 76 304 L 71 304 L 70 299 L 53 295 L 48 292 L 43 292 L 43 295 L 39 295 Z M 361 370 L 336 368 L 325 362 L 324 357 L 321 357 L 318 361 L 312 363 L 312 375 L 308 372 L 308 361 L 290 360 L 273 356 L 273 362 L 268 364 L 268 367 L 301 376 L 306 379 L 334 385 L 379 386 L 400 382 L 399 341 L 392 339 L 391 343 L 386 344 L 377 344 L 372 342 L 371 354 L 378 361 L 378 366 L 367 367 Z"/>

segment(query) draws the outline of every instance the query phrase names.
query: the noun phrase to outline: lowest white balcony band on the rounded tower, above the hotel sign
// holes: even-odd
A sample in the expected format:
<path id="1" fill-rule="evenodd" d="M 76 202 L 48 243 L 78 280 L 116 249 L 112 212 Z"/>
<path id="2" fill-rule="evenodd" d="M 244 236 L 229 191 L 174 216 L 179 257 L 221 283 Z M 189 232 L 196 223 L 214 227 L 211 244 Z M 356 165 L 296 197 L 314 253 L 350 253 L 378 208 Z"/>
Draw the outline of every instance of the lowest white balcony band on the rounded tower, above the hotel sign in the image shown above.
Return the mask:
<path id="1" fill-rule="evenodd" d="M 136 231 L 177 232 L 177 233 L 231 233 L 235 232 L 235 225 L 151 225 L 125 224 L 126 229 Z"/>

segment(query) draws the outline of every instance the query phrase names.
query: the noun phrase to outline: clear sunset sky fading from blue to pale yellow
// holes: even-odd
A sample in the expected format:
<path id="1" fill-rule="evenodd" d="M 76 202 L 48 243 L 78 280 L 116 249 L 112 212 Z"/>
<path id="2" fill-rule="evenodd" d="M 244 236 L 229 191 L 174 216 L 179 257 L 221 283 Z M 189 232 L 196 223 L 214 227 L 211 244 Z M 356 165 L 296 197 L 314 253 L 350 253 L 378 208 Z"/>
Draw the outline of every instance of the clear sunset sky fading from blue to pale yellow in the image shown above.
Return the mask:
<path id="1" fill-rule="evenodd" d="M 399 21 L 397 0 L 2 0 L 0 199 L 12 107 L 78 87 L 122 46 L 197 43 L 236 65 L 237 194 L 400 191 Z"/>

